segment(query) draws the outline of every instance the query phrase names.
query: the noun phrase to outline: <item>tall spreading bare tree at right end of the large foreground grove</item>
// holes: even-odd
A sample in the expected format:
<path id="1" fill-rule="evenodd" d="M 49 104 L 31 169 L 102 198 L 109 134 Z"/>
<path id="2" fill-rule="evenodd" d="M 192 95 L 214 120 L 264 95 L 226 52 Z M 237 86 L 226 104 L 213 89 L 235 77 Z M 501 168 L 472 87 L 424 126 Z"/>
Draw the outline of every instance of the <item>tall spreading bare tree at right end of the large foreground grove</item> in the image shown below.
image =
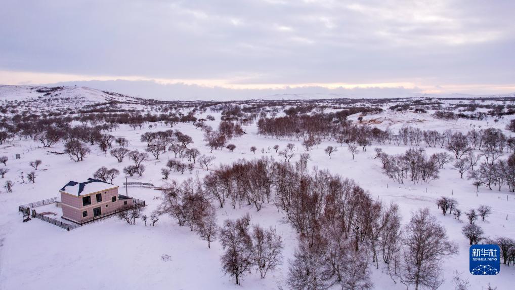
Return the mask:
<path id="1" fill-rule="evenodd" d="M 415 289 L 439 287 L 443 283 L 440 260 L 457 253 L 457 246 L 449 241 L 445 228 L 429 209 L 420 209 L 411 216 L 401 240 L 404 253 L 401 282 L 415 285 Z"/>

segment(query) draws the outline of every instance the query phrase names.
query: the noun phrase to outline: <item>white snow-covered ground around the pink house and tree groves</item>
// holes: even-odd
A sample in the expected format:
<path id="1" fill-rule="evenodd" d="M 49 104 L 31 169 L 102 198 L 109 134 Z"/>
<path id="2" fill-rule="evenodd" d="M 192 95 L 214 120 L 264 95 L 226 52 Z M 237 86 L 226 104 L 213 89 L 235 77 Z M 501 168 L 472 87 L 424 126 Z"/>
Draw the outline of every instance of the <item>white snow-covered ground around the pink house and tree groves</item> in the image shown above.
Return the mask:
<path id="1" fill-rule="evenodd" d="M 215 116 L 216 121 L 207 121 L 213 128 L 218 127 L 220 114 L 208 113 Z M 356 120 L 357 116 L 349 117 Z M 376 120 L 376 126 L 384 129 L 390 127 L 398 130 L 403 124 L 409 123 L 421 129 L 446 129 L 467 131 L 472 128 L 487 128 L 495 126 L 504 130 L 507 120 L 495 123 L 488 121 L 440 121 L 429 114 L 384 111 L 380 114 L 370 114 L 364 122 Z M 422 119 L 422 121 L 421 121 Z M 380 121 L 380 123 L 377 123 Z M 487 123 L 488 122 L 488 123 Z M 145 126 L 133 130 L 122 125 L 116 131 L 110 132 L 115 137 L 129 140 L 129 149 L 144 151 L 146 144 L 140 142 L 140 135 L 147 131 L 166 130 L 169 127 L 154 124 L 152 129 Z M 234 152 L 227 149 L 213 150 L 204 146 L 203 132 L 192 124 L 179 123 L 174 126 L 181 132 L 190 135 L 202 154 L 216 157 L 215 166 L 228 164 L 238 159 L 261 158 L 272 156 L 280 160 L 273 145 L 285 148 L 287 143 L 296 145 L 294 152 L 301 153 L 303 148 L 299 141 L 277 140 L 265 138 L 257 133 L 255 122 L 246 128 L 242 138 L 231 140 L 236 145 Z M 505 131 L 509 135 L 508 132 Z M 297 233 L 284 222 L 284 215 L 272 203 L 264 204 L 263 209 L 256 212 L 252 206 L 242 206 L 236 209 L 225 207 L 217 210 L 218 224 L 227 219 L 235 219 L 244 213 L 252 217 L 251 223 L 261 226 L 271 226 L 281 235 L 284 244 L 282 265 L 270 272 L 265 279 L 253 272 L 246 275 L 242 285 L 235 285 L 228 275 L 224 275 L 219 257 L 222 248 L 218 241 L 208 249 L 207 242 L 200 240 L 195 232 L 188 227 L 180 227 L 168 216 L 161 216 L 155 227 L 145 227 L 143 221 L 137 220 L 136 225 L 128 225 L 125 221 L 112 217 L 97 223 L 85 225 L 66 231 L 39 219 L 22 223 L 22 215 L 18 205 L 42 199 L 59 197 L 59 189 L 70 180 L 84 181 L 92 177 L 100 166 L 117 168 L 122 171 L 124 166 L 132 164 L 128 159 L 118 163 L 115 158 L 102 153 L 98 146 L 90 146 L 91 153 L 82 162 L 74 162 L 67 155 L 55 155 L 51 151 L 62 151 L 63 143 L 59 142 L 53 148 L 38 148 L 37 141 L 15 139 L 11 144 L 0 146 L 0 156 L 9 157 L 7 167 L 9 172 L 0 180 L 15 181 L 13 192 L 0 193 L 0 289 L 287 289 L 286 277 L 288 260 L 293 258 L 293 252 L 298 244 Z M 328 145 L 338 147 L 332 158 L 324 153 Z M 117 145 L 114 145 L 117 146 Z M 258 150 L 252 153 L 250 146 Z M 419 208 L 427 207 L 447 229 L 450 239 L 458 244 L 459 253 L 450 258 L 444 258 L 442 267 L 445 278 L 441 289 L 454 289 L 452 277 L 455 271 L 463 272 L 462 278 L 468 278 L 470 289 L 483 289 L 489 283 L 499 290 L 512 288 L 515 281 L 515 267 L 501 265 L 501 273 L 496 276 L 472 276 L 469 269 L 469 243 L 461 233 L 461 228 L 467 223 L 462 218 L 458 221 L 452 215 L 443 216 L 436 206 L 436 199 L 441 196 L 452 197 L 459 203 L 462 210 L 477 208 L 486 204 L 493 209 L 486 221 L 477 221 L 485 234 L 490 237 L 515 237 L 515 195 L 503 186 L 501 191 L 480 187 L 476 196 L 475 187 L 471 180 L 460 179 L 458 172 L 448 164 L 440 170 L 439 179 L 430 183 L 399 184 L 388 179 L 382 173 L 379 159 L 374 160 L 373 147 L 381 147 L 386 153 L 401 153 L 410 146 L 372 145 L 366 152 L 359 152 L 352 159 L 347 145 L 340 147 L 336 142 L 323 142 L 310 151 L 309 167 L 329 169 L 332 173 L 354 179 L 371 196 L 385 204 L 399 204 L 403 223 L 407 223 L 410 213 Z M 265 152 L 261 152 L 261 148 Z M 440 148 L 426 148 L 427 153 L 446 151 Z M 21 159 L 15 159 L 16 153 L 21 153 Z M 505 155 L 506 157 L 507 155 Z M 166 161 L 173 157 L 173 152 L 166 152 L 156 161 L 150 156 L 145 165 L 146 172 L 142 177 L 128 177 L 129 181 L 152 181 L 153 184 L 164 184 L 161 168 Z M 505 158 L 504 157 L 504 158 Z M 298 159 L 296 155 L 291 162 Z M 36 170 L 36 182 L 20 183 L 18 176 L 33 169 L 29 162 L 41 159 L 42 165 Z M 0 167 L 4 166 L 0 164 Z M 170 179 L 182 181 L 197 176 L 202 178 L 207 171 L 197 168 L 193 174 L 187 172 L 171 173 Z M 119 185 L 119 192 L 125 194 L 124 174 L 119 175 L 114 184 Z M 155 210 L 161 202 L 161 192 L 143 187 L 129 187 L 128 195 L 145 200 L 144 213 Z M 45 211 L 47 208 L 45 208 Z M 48 210 L 52 210 L 51 208 Z M 56 209 L 57 210 L 57 209 Z M 379 269 L 371 266 L 372 282 L 375 289 L 405 289 L 405 286 L 394 281 Z M 337 289 L 339 286 L 334 286 Z"/>

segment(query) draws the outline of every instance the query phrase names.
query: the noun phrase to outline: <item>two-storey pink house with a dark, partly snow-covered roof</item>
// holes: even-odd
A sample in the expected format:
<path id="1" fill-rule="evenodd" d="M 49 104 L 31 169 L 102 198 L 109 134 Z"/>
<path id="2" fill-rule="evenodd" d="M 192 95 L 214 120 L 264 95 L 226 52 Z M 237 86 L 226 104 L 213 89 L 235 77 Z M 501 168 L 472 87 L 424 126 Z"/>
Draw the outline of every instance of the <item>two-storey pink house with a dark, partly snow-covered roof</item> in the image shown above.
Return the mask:
<path id="1" fill-rule="evenodd" d="M 118 186 L 99 179 L 70 181 L 61 193 L 62 218 L 78 224 L 133 207 L 133 198 L 118 194 Z"/>

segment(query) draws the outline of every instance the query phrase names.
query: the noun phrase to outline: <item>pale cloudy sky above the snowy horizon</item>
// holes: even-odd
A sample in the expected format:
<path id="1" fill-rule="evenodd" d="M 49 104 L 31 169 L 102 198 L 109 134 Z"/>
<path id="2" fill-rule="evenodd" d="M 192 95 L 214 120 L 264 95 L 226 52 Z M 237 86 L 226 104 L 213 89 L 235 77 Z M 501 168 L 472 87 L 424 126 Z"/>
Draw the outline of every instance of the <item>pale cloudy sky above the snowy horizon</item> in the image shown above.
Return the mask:
<path id="1" fill-rule="evenodd" d="M 510 93 L 513 11 L 504 0 L 4 0 L 0 83 Z"/>

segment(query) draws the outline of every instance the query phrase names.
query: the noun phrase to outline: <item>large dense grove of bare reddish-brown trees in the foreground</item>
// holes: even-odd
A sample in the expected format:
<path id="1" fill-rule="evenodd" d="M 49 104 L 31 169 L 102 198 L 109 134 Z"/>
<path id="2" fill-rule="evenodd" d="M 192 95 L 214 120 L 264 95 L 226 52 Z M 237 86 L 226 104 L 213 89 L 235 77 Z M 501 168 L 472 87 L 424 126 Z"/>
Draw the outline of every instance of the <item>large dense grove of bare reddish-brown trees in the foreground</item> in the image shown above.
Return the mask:
<path id="1" fill-rule="evenodd" d="M 436 287 L 442 283 L 440 260 L 457 251 L 427 209 L 415 212 L 402 226 L 396 204 L 374 201 L 353 180 L 325 170 L 310 172 L 301 162 L 239 160 L 202 180 L 167 186 L 170 190 L 164 194 L 161 212 L 197 231 L 208 244 L 218 238 L 225 250 L 222 268 L 237 283 L 252 265 L 259 269 L 249 258 L 256 229 L 250 230 L 250 217 L 244 216 L 213 230 L 214 208 L 227 202 L 233 208 L 240 204 L 256 211 L 273 203 L 284 213 L 299 236 L 287 279 L 295 289 L 327 289 L 335 284 L 342 289 L 368 289 L 373 285 L 371 265 L 383 267 L 396 283 Z M 273 249 L 280 243 L 269 231 L 267 248 Z"/>

